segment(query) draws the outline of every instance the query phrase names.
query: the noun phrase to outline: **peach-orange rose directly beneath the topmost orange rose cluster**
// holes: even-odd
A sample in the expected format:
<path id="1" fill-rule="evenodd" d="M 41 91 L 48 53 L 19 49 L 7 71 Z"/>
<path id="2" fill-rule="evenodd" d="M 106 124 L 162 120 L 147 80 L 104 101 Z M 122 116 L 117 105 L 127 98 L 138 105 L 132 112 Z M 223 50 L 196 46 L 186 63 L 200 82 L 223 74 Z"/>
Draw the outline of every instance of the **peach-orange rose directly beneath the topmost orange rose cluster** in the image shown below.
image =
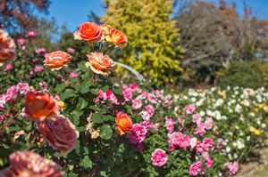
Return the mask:
<path id="1" fill-rule="evenodd" d="M 86 65 L 96 74 L 108 75 L 109 70 L 113 68 L 113 60 L 102 52 L 91 52 L 87 56 L 88 62 Z"/>

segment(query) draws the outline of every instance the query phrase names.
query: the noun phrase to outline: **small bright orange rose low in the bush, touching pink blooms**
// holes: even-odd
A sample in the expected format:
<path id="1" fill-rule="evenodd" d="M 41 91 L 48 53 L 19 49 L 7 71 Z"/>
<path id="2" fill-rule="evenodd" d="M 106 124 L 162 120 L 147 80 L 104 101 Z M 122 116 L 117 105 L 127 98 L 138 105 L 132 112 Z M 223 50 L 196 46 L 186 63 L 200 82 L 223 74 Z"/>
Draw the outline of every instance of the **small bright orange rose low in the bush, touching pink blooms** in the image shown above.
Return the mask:
<path id="1" fill-rule="evenodd" d="M 118 113 L 117 117 L 115 117 L 115 122 L 117 125 L 116 130 L 120 135 L 124 133 L 130 133 L 132 128 L 132 120 L 128 115 L 124 113 Z"/>

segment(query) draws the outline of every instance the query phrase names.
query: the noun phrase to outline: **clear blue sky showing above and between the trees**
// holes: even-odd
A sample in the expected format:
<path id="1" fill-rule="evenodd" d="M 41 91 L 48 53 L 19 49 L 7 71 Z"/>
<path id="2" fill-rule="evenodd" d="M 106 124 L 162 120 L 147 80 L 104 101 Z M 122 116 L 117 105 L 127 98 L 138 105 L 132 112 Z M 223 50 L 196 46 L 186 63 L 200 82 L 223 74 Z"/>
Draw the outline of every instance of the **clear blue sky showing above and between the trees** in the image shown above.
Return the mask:
<path id="1" fill-rule="evenodd" d="M 74 31 L 81 22 L 88 20 L 90 11 L 97 15 L 104 14 L 102 0 L 51 0 L 49 17 L 54 17 L 58 25 L 66 24 L 68 29 Z M 127 0 L 126 0 L 127 1 Z M 205 0 L 215 1 L 215 0 Z M 242 0 L 228 0 L 236 2 L 239 12 L 243 12 Z M 268 0 L 246 0 L 248 6 L 252 7 L 256 16 L 260 19 L 268 19 Z"/>

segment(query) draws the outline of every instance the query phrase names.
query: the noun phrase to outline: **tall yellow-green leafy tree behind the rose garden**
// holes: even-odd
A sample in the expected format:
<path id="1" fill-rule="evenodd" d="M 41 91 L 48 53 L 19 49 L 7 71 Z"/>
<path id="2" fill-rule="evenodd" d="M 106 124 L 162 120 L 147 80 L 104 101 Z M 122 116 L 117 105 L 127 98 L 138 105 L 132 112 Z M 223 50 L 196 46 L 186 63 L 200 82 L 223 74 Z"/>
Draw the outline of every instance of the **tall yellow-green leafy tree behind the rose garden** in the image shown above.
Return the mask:
<path id="1" fill-rule="evenodd" d="M 172 0 L 104 0 L 105 24 L 120 29 L 129 44 L 117 57 L 155 81 L 174 82 L 184 52 L 179 28 L 171 20 Z M 121 68 L 117 68 L 121 71 Z"/>

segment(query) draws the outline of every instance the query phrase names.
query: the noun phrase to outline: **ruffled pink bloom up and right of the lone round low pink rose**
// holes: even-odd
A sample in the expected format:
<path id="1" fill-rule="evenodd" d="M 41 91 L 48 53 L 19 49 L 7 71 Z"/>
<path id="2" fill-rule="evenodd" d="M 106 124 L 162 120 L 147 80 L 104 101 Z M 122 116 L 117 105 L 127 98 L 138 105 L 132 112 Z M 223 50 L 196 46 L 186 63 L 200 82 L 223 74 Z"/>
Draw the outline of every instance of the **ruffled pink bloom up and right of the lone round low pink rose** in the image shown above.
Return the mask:
<path id="1" fill-rule="evenodd" d="M 190 145 L 190 137 L 188 135 L 184 135 L 180 132 L 177 133 L 168 133 L 168 141 L 169 141 L 169 149 L 172 151 L 177 147 L 181 149 L 187 149 Z"/>

